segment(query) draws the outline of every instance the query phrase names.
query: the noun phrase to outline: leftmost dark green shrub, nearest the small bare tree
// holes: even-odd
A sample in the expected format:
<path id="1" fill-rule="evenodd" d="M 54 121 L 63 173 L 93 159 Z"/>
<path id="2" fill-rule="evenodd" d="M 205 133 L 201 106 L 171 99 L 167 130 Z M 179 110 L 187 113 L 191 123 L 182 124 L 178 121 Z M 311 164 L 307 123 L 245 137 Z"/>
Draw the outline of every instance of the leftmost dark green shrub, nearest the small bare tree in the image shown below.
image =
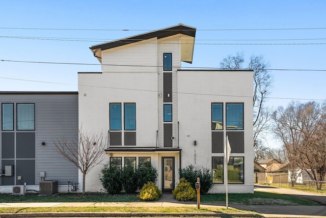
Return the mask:
<path id="1" fill-rule="evenodd" d="M 113 163 L 108 163 L 101 170 L 100 180 L 102 186 L 105 188 L 108 194 L 118 194 L 121 192 L 121 169 Z"/>

